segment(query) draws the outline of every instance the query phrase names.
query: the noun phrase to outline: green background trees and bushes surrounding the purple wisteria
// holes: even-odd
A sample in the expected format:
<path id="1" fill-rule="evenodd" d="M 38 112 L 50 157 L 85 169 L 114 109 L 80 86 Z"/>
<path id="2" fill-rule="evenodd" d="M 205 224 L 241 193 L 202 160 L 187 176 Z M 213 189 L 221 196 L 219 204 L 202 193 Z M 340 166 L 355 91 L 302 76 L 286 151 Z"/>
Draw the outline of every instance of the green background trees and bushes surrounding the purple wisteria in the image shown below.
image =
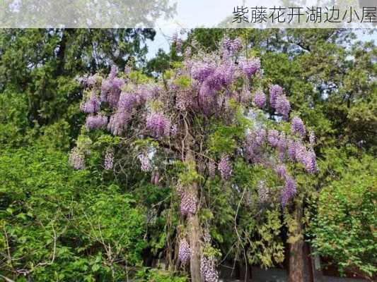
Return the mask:
<path id="1" fill-rule="evenodd" d="M 260 58 L 264 79 L 284 88 L 292 111 L 313 130 L 318 173 L 299 178 L 301 216 L 279 204 L 256 206 L 215 178 L 211 209 L 199 218 L 208 223 L 217 265 L 284 266 L 287 246 L 305 241 L 341 273 L 376 278 L 377 49 L 365 39 L 373 34 L 195 29 L 179 41 L 182 52 L 175 42 L 146 60 L 146 42 L 155 35 L 0 30 L 0 278 L 188 281 L 178 261 L 179 202 L 166 181 L 176 171 L 151 179 L 127 150 L 105 170 L 103 148 L 120 140 L 98 132 L 81 139 L 86 115 L 77 78 L 108 74 L 115 65 L 155 80 L 179 65 L 192 42 L 215 51 L 224 35 L 239 37 Z M 214 147 L 226 142 L 218 126 Z M 93 149 L 86 169 L 77 171 L 69 152 L 79 142 L 93 142 Z M 233 174 L 252 188 L 269 177 L 240 162 Z"/>

